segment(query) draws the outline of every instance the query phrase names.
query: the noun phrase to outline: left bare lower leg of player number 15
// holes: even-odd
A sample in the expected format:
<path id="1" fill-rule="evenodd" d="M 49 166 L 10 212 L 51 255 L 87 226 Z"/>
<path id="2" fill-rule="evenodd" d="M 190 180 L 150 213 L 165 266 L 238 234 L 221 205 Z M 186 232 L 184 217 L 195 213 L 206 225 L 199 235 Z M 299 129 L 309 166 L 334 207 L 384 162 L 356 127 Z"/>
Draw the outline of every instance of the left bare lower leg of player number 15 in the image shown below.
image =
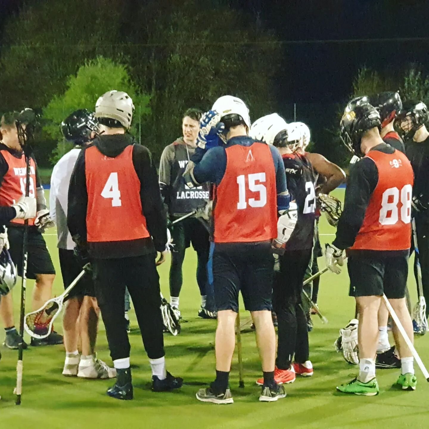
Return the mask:
<path id="1" fill-rule="evenodd" d="M 216 370 L 218 371 L 229 372 L 231 369 L 231 361 L 236 346 L 236 318 L 237 313 L 232 310 L 218 311 L 218 327 L 215 340 Z"/>

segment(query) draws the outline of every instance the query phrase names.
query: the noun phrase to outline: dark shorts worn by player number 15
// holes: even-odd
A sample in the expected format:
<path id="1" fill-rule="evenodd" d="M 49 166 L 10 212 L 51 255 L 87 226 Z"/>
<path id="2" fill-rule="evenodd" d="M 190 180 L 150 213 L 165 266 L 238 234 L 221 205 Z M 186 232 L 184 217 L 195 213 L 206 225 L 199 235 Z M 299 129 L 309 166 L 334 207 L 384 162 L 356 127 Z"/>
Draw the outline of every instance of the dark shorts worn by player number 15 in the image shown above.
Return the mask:
<path id="1" fill-rule="evenodd" d="M 239 310 L 241 290 L 248 311 L 271 310 L 274 257 L 271 243 L 221 243 L 212 246 L 216 309 Z"/>

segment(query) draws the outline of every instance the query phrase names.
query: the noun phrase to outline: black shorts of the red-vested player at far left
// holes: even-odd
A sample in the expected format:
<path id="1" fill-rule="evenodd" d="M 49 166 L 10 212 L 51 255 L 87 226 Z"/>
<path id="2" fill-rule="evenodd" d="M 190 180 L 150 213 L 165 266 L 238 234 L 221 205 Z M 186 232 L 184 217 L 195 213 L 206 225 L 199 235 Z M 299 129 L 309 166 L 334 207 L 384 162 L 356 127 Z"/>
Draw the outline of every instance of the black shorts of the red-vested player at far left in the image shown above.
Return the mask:
<path id="1" fill-rule="evenodd" d="M 18 275 L 22 275 L 22 242 L 24 241 L 24 227 L 7 228 L 9 238 L 9 253 L 12 261 L 18 266 Z M 45 239 L 36 227 L 28 228 L 27 241 L 27 278 L 36 279 L 36 274 L 55 274 L 51 255 L 46 248 Z"/>

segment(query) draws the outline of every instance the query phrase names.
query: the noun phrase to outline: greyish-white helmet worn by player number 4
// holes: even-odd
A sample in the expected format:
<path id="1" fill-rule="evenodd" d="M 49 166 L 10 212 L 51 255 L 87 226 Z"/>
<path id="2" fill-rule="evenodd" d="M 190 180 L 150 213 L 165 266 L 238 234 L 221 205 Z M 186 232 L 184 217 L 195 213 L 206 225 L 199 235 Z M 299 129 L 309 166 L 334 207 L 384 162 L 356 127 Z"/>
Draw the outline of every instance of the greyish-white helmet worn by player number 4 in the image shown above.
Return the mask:
<path id="1" fill-rule="evenodd" d="M 131 97 L 124 91 L 107 91 L 95 104 L 96 118 L 110 118 L 119 121 L 126 130 L 131 127 L 134 105 Z"/>

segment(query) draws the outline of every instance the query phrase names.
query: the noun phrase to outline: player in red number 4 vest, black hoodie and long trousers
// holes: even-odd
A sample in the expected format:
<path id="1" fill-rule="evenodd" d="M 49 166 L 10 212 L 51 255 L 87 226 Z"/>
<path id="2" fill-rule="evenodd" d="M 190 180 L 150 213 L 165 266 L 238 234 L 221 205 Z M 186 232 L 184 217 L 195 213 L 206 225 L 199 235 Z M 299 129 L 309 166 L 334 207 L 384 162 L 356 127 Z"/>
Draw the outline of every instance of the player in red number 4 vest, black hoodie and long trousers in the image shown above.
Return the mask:
<path id="1" fill-rule="evenodd" d="M 95 294 L 117 371 L 107 395 L 133 399 L 130 342 L 124 319 L 130 291 L 152 369 L 152 389 L 181 387 L 166 371 L 157 264 L 165 261 L 166 214 L 156 168 L 147 148 L 130 134 L 134 105 L 122 91 L 108 91 L 95 106 L 100 136 L 83 148 L 70 179 L 67 224 L 78 251 L 91 259 Z"/>

